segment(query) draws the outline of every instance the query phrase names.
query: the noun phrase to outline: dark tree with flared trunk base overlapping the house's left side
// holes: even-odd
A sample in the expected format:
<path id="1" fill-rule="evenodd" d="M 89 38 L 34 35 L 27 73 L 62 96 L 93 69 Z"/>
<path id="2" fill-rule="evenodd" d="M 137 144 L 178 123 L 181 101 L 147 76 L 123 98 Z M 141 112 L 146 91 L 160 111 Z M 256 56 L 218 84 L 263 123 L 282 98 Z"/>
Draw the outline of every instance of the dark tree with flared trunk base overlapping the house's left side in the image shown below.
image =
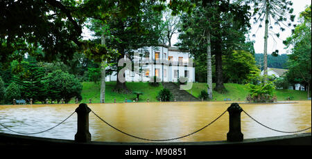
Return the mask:
<path id="1" fill-rule="evenodd" d="M 105 21 L 105 25 L 99 25 L 100 22 L 94 21 L 92 27 L 95 36 L 103 39 L 105 36 L 105 46 L 116 49 L 118 56 L 107 60 L 107 63 L 114 63 L 111 71 L 119 73 L 121 66 L 117 66 L 119 59 L 127 56 L 132 59 L 133 51 L 143 46 L 154 46 L 159 43 L 160 22 L 162 16 L 160 12 L 155 12 L 153 6 L 155 2 L 146 1 L 139 4 L 139 10 L 127 17 L 115 17 Z M 116 6 L 119 8 L 119 6 Z M 103 23 L 102 23 L 103 24 Z M 104 28 L 104 29 L 102 29 Z M 104 31 L 101 31 L 104 30 Z M 103 40 L 101 40 L 103 41 Z M 100 60 L 99 60 L 100 62 Z M 129 93 L 130 90 L 125 86 L 125 82 L 120 82 L 117 75 L 116 88 L 114 91 L 120 93 Z"/>

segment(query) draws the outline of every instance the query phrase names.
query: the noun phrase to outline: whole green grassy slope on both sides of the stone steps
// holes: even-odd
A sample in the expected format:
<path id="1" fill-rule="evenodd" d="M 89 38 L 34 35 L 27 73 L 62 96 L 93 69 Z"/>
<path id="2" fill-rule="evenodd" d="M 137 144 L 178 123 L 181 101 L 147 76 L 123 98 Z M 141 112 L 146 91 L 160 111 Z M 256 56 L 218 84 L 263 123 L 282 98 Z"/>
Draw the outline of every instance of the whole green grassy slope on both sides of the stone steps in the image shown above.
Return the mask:
<path id="1" fill-rule="evenodd" d="M 127 82 L 128 88 L 132 91 L 141 91 L 144 95 L 140 95 L 139 102 L 146 102 L 147 98 L 150 99 L 150 102 L 157 102 L 156 96 L 157 93 L 162 90 L 162 84 L 158 87 L 149 86 L 148 83 L 142 82 Z M 114 93 L 112 89 L 116 85 L 116 82 L 106 82 L 106 93 L 105 93 L 105 102 L 112 103 L 114 98 L 116 102 L 124 102 L 125 98 L 128 100 L 135 100 L 136 95 L 134 94 L 120 94 Z M 225 98 L 229 98 L 234 101 L 245 100 L 246 95 L 248 95 L 248 88 L 243 84 L 224 84 L 227 88 L 227 93 L 219 94 L 215 91 L 213 92 L 213 97 L 216 101 L 223 101 Z M 215 86 L 215 84 L 213 84 Z M 187 90 L 189 93 L 198 97 L 200 91 L 206 88 L 205 83 L 193 83 L 191 90 Z M 306 100 L 307 93 L 305 91 L 293 91 L 293 90 L 275 90 L 275 95 L 277 95 L 277 100 L 286 100 L 288 96 L 293 97 L 293 100 Z M 93 103 L 100 102 L 100 82 L 95 84 L 94 82 L 83 82 L 83 91 L 81 93 L 83 100 L 81 102 L 88 103 L 89 99 L 92 99 Z M 71 100 L 70 103 L 74 103 L 74 100 Z"/>

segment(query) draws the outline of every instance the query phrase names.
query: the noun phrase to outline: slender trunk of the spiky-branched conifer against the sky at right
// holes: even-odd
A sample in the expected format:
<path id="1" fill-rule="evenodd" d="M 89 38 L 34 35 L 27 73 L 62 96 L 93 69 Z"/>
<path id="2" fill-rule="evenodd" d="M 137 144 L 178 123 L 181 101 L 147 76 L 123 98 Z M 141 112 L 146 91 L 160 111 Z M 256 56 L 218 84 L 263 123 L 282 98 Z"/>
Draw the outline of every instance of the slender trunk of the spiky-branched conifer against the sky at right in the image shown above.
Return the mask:
<path id="1" fill-rule="evenodd" d="M 265 21 L 265 30 L 264 30 L 264 48 L 263 48 L 263 75 L 268 76 L 268 12 L 269 8 L 266 6 L 266 21 Z M 268 78 L 264 78 L 264 82 L 267 82 Z"/>

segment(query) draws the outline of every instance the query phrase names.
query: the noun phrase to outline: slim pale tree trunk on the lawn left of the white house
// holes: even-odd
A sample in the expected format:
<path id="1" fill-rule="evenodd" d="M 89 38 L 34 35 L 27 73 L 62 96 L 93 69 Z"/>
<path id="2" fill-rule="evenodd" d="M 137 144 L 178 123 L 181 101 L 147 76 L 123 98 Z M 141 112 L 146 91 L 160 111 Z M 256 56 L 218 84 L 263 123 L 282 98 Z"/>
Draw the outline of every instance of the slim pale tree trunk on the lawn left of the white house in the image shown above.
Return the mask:
<path id="1" fill-rule="evenodd" d="M 101 44 L 105 45 L 105 37 L 104 37 L 103 32 L 101 34 Z M 106 65 L 106 62 L 104 59 L 102 59 L 102 62 L 101 62 L 101 95 L 100 95 L 100 100 L 101 100 L 100 102 L 101 103 L 105 103 L 105 77 L 106 77 L 105 65 Z"/>

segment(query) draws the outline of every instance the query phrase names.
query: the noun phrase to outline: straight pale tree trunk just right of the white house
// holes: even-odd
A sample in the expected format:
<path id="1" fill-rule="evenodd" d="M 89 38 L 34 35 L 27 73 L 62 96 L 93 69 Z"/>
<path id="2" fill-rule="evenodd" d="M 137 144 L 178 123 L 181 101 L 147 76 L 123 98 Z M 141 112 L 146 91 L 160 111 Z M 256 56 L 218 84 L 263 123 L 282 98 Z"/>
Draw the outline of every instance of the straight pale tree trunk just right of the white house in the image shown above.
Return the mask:
<path id="1" fill-rule="evenodd" d="M 207 93 L 209 100 L 212 99 L 212 71 L 211 71 L 211 39 L 207 29 Z"/>

